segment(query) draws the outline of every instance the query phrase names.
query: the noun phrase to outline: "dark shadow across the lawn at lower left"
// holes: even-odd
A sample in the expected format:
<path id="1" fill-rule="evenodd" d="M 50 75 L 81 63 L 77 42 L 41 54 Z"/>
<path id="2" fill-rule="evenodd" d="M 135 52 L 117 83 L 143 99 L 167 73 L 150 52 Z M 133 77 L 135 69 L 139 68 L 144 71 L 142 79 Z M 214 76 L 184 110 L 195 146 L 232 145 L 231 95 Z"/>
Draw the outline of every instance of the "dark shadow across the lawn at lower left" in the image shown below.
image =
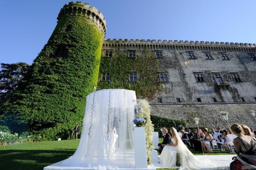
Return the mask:
<path id="1" fill-rule="evenodd" d="M 69 158 L 76 149 L 0 150 L 0 169 L 43 170 L 44 167 Z"/>

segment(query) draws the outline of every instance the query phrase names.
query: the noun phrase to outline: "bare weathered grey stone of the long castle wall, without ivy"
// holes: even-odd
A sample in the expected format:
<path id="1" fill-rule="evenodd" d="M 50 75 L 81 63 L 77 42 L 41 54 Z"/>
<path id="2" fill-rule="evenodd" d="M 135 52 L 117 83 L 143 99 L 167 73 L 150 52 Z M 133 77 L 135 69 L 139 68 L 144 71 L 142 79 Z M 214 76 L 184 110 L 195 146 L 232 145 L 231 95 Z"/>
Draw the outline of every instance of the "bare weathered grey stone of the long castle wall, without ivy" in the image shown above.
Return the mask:
<path id="1" fill-rule="evenodd" d="M 165 90 L 150 100 L 152 114 L 184 119 L 189 126 L 194 126 L 193 118 L 199 117 L 202 126 L 225 128 L 220 111 L 228 111 L 231 124 L 256 128 L 254 117 L 248 113 L 256 110 L 256 44 L 108 39 L 103 43 L 102 57 L 106 50 L 114 49 L 162 52 L 159 73 L 165 73 L 167 81 L 161 81 Z M 190 59 L 189 53 L 195 59 Z M 212 59 L 206 59 L 205 54 Z M 196 74 L 203 81 L 198 81 Z M 234 76 L 239 76 L 238 82 Z"/>

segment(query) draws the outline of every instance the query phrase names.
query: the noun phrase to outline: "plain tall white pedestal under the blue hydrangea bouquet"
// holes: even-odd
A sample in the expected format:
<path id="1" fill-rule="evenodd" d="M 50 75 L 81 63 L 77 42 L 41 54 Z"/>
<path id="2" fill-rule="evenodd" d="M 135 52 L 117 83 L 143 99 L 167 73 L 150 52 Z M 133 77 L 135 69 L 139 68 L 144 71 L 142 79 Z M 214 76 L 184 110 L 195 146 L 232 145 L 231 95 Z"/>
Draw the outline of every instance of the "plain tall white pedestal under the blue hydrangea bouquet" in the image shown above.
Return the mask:
<path id="1" fill-rule="evenodd" d="M 134 128 L 135 168 L 147 169 L 146 137 L 144 127 Z"/>

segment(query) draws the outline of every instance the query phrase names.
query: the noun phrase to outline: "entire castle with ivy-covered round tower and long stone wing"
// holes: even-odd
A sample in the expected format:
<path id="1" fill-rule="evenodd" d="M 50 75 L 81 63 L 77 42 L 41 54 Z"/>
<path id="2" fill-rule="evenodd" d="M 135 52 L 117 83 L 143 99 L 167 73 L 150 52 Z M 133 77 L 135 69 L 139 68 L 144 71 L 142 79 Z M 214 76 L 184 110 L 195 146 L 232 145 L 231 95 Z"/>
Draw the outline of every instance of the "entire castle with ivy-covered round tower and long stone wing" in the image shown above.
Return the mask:
<path id="1" fill-rule="evenodd" d="M 82 2 L 63 6 L 49 41 L 5 113 L 16 113 L 30 128 L 55 140 L 82 123 L 86 96 L 95 89 L 128 89 L 150 102 L 151 114 L 183 119 L 194 126 L 256 128 L 256 44 L 104 40 L 106 21 Z M 118 102 L 118 101 L 117 101 Z M 51 135 L 49 135 L 51 134 Z"/>

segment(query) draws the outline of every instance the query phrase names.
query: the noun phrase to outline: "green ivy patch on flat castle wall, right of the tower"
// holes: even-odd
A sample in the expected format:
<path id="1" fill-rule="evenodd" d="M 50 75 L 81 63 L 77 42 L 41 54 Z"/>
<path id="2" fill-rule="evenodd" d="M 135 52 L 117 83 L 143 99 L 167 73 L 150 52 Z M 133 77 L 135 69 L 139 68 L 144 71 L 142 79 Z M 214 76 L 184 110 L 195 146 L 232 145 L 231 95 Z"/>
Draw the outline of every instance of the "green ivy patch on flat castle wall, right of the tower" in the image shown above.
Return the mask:
<path id="1" fill-rule="evenodd" d="M 158 74 L 159 59 L 152 50 L 134 51 L 135 58 L 129 58 L 128 50 L 120 49 L 114 49 L 112 57 L 101 58 L 97 90 L 127 89 L 136 91 L 137 97 L 154 98 L 161 89 Z M 110 81 L 101 81 L 102 72 L 110 73 Z M 137 81 L 129 81 L 130 72 L 137 72 Z"/>

